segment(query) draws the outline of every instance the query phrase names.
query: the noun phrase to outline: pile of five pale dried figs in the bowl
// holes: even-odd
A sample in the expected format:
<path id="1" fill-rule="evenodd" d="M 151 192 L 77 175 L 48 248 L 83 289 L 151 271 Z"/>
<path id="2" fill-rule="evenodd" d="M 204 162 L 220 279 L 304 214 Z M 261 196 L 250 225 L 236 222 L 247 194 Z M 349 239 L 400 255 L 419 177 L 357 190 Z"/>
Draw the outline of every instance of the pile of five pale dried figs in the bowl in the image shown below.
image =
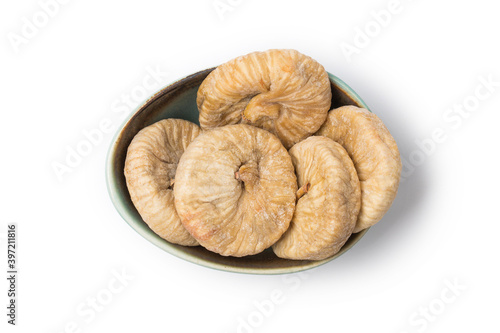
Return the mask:
<path id="1" fill-rule="evenodd" d="M 198 90 L 201 128 L 165 119 L 132 140 L 125 177 L 165 240 L 223 256 L 272 247 L 321 260 L 382 218 L 396 196 L 396 142 L 368 110 L 330 110 L 328 74 L 295 50 L 254 52 Z"/>

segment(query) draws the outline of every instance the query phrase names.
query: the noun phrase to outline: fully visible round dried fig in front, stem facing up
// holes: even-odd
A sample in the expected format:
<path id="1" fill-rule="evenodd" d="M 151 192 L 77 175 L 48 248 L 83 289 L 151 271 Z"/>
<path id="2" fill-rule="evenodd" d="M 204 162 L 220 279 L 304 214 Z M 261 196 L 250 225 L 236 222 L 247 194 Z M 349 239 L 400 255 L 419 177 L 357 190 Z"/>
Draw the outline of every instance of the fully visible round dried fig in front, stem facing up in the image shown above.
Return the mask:
<path id="1" fill-rule="evenodd" d="M 223 256 L 262 252 L 287 230 L 297 180 L 280 140 L 239 124 L 205 131 L 182 155 L 175 206 L 198 242 Z"/>

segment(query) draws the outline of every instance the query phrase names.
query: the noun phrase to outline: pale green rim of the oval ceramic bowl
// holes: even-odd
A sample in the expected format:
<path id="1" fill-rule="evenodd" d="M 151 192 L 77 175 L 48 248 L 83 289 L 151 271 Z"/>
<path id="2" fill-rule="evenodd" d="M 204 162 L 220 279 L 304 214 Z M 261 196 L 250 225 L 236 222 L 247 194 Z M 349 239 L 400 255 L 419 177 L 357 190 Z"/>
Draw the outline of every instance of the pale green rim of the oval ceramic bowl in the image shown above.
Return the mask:
<path id="1" fill-rule="evenodd" d="M 215 67 L 214 67 L 215 68 Z M 119 138 L 123 132 L 123 130 L 127 127 L 127 124 L 132 121 L 134 116 L 139 113 L 140 110 L 143 108 L 147 107 L 152 101 L 154 101 L 158 96 L 161 96 L 165 91 L 170 90 L 174 87 L 176 87 L 178 84 L 182 83 L 186 79 L 189 79 L 191 77 L 195 77 L 203 72 L 211 71 L 214 68 L 209 68 L 205 69 L 202 71 L 198 71 L 194 74 L 187 75 L 183 78 L 180 78 L 178 80 L 173 81 L 172 83 L 163 86 L 160 88 L 157 92 L 152 94 L 150 97 L 145 99 L 143 102 L 139 103 L 136 108 L 134 108 L 129 115 L 126 117 L 126 119 L 122 122 L 122 124 L 118 127 L 116 133 L 114 134 L 111 144 L 109 146 L 109 149 L 106 154 L 106 161 L 105 161 L 105 173 L 106 173 L 106 188 L 108 191 L 108 195 L 111 199 L 111 202 L 113 203 L 113 206 L 115 209 L 118 211 L 118 214 L 122 217 L 123 220 L 132 228 L 134 229 L 139 235 L 141 235 L 143 238 L 148 240 L 150 243 L 154 244 L 158 248 L 162 249 L 163 251 L 174 255 L 177 258 L 186 260 L 188 262 L 216 269 L 219 271 L 225 271 L 225 272 L 232 272 L 232 273 L 241 273 L 241 274 L 256 274 L 256 275 L 276 275 L 276 274 L 291 274 L 291 273 L 298 273 L 302 272 L 305 270 L 309 270 L 315 267 L 322 266 L 333 259 L 336 259 L 340 257 L 342 254 L 347 252 L 349 249 L 351 249 L 361 238 L 363 238 L 364 234 L 370 229 L 364 229 L 360 231 L 359 233 L 356 234 L 356 239 L 352 240 L 351 242 L 345 244 L 341 250 L 336 253 L 335 255 L 323 259 L 323 260 L 318 260 L 318 261 L 310 261 L 308 264 L 303 265 L 303 266 L 296 266 L 296 267 L 276 267 L 276 268 L 254 268 L 254 267 L 235 267 L 235 266 L 228 266 L 224 265 L 221 263 L 216 263 L 216 262 L 211 262 L 205 259 L 200 259 L 194 255 L 188 254 L 183 252 L 182 250 L 177 249 L 173 244 L 169 243 L 168 241 L 157 237 L 154 235 L 154 232 L 148 232 L 145 231 L 147 230 L 144 227 L 139 227 L 136 221 L 136 217 L 133 216 L 128 209 L 126 209 L 126 203 L 124 202 L 124 199 L 122 196 L 119 195 L 118 189 L 118 183 L 116 181 L 116 177 L 113 173 L 113 165 L 114 165 L 114 156 L 116 153 L 116 147 L 119 142 Z M 351 97 L 356 103 L 359 105 L 363 106 L 367 110 L 370 110 L 368 108 L 368 105 L 361 99 L 361 97 L 350 87 L 348 86 L 343 80 L 338 78 L 337 76 L 328 73 L 328 77 L 330 80 L 343 92 Z M 144 222 L 143 222 L 144 223 Z"/>

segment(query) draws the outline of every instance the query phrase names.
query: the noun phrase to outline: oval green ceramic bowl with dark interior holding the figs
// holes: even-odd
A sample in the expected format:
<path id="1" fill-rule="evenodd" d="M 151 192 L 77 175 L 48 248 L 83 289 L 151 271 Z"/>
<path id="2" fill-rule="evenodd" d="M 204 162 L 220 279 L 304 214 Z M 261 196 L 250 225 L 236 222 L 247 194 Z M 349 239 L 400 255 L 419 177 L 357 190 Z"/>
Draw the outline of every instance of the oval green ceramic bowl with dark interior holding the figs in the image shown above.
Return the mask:
<path id="1" fill-rule="evenodd" d="M 106 161 L 106 178 L 111 201 L 123 219 L 141 236 L 159 248 L 179 258 L 219 270 L 251 274 L 284 274 L 303 271 L 325 264 L 349 250 L 363 237 L 366 230 L 353 234 L 333 257 L 320 261 L 287 260 L 274 255 L 272 249 L 242 258 L 223 257 L 201 246 L 175 245 L 157 236 L 142 220 L 135 209 L 123 173 L 127 148 L 142 128 L 161 119 L 180 118 L 198 124 L 196 93 L 201 82 L 213 70 L 210 68 L 179 80 L 149 98 L 125 121 L 114 137 Z M 329 74 L 332 87 L 332 108 L 357 105 L 368 108 L 361 98 L 342 80 Z"/>

